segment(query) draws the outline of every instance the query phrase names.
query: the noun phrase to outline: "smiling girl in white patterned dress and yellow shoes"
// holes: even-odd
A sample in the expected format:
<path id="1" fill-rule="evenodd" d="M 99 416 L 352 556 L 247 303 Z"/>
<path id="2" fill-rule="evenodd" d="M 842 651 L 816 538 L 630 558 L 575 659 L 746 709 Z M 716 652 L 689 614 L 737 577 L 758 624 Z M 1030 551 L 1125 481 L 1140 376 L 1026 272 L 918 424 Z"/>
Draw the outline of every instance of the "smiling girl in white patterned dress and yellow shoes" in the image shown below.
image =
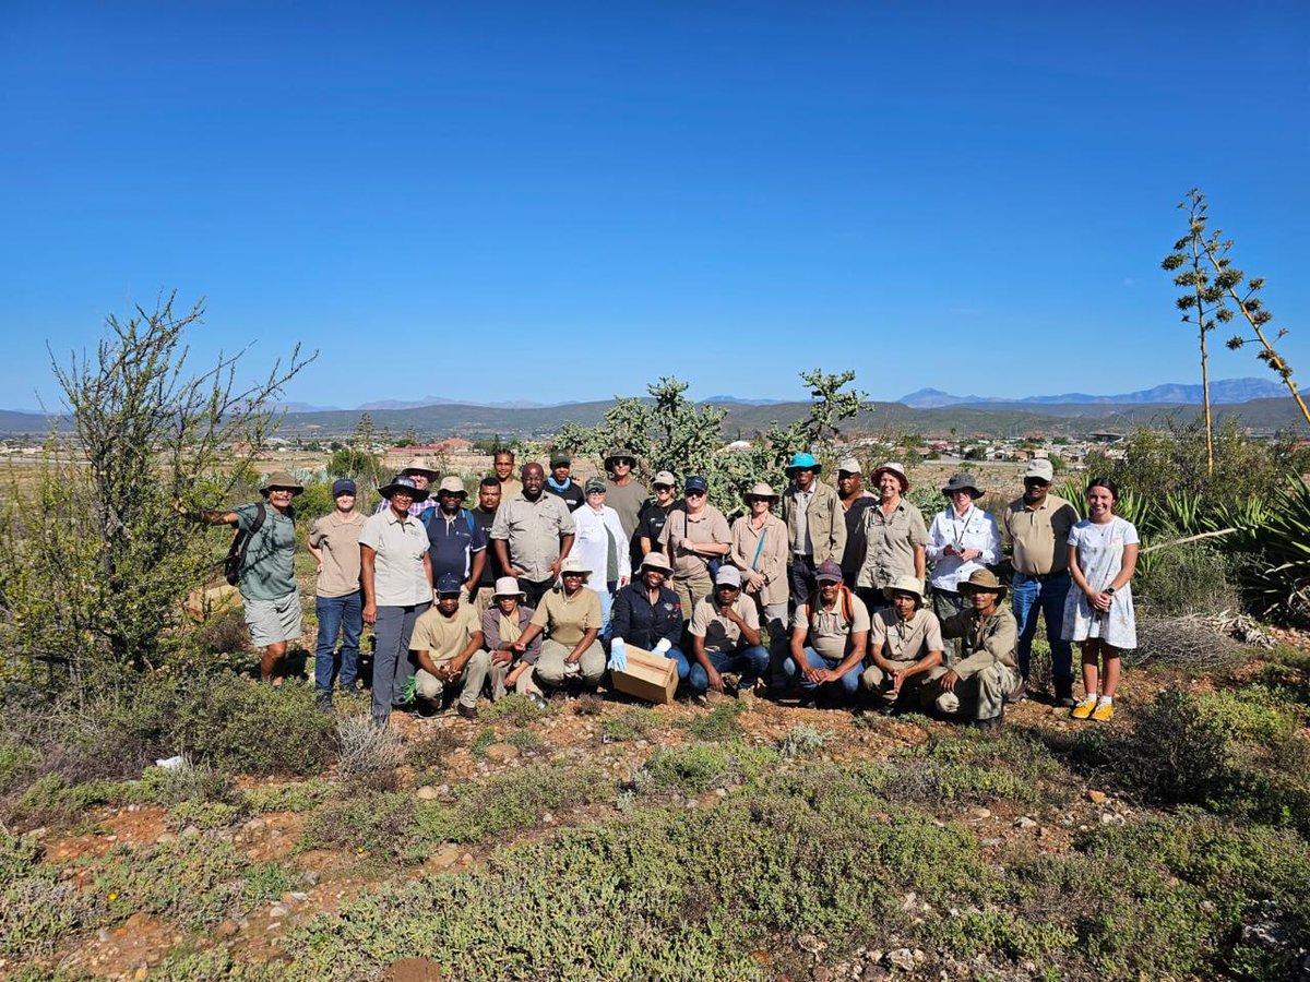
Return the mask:
<path id="1" fill-rule="evenodd" d="M 1094 478 L 1087 484 L 1087 517 L 1069 530 L 1069 575 L 1077 589 L 1065 601 L 1064 630 L 1065 640 L 1082 646 L 1083 685 L 1082 702 L 1070 715 L 1102 723 L 1115 715 L 1119 653 L 1137 647 L 1132 588 L 1137 529 L 1115 515 L 1117 498 L 1114 481 Z"/>

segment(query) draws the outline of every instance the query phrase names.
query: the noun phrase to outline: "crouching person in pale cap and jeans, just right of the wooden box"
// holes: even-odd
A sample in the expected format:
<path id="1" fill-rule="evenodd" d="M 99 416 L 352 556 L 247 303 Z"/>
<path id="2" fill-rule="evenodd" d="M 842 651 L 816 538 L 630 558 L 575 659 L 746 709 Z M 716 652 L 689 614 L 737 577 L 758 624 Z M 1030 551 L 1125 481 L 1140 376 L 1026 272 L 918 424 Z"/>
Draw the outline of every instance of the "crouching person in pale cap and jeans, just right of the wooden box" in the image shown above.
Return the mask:
<path id="1" fill-rule="evenodd" d="M 741 571 L 719 567 L 714 596 L 702 597 L 686 628 L 696 664 L 686 677 L 696 697 L 707 689 L 722 693 L 723 674 L 740 676 L 738 691 L 751 691 L 769 668 L 769 652 L 760 644 L 760 615 L 755 601 L 741 594 Z"/>

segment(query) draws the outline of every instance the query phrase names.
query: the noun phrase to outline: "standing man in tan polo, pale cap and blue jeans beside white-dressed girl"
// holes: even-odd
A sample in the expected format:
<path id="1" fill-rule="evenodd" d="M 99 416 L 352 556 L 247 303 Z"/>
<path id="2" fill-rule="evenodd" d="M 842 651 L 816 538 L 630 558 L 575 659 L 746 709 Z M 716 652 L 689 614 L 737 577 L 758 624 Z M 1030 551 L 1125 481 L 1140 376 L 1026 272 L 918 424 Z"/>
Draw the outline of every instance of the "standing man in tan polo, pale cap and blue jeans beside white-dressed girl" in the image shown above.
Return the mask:
<path id="1" fill-rule="evenodd" d="M 1019 625 L 1019 682 L 1009 700 L 1027 695 L 1032 639 L 1038 614 L 1047 625 L 1051 643 L 1051 674 L 1056 702 L 1073 707 L 1073 646 L 1064 638 L 1065 600 L 1069 596 L 1069 533 L 1078 524 L 1078 509 L 1051 491 L 1055 469 L 1036 458 L 1023 473 L 1023 495 L 1001 512 L 1001 542 L 1011 554 L 1014 619 Z"/>

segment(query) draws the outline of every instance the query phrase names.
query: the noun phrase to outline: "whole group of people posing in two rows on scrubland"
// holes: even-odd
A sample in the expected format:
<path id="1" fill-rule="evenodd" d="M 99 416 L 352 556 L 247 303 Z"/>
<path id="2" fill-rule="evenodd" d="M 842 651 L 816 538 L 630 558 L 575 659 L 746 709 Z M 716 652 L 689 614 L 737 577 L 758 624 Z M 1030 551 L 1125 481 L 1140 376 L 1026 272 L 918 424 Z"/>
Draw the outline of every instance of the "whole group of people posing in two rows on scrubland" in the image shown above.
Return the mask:
<path id="1" fill-rule="evenodd" d="M 455 702 L 473 719 L 483 691 L 540 702 L 595 689 L 641 648 L 675 663 L 693 698 L 863 698 L 886 712 L 927 708 L 996 727 L 1006 703 L 1027 695 L 1040 611 L 1056 700 L 1076 719 L 1114 715 L 1120 652 L 1136 647 L 1137 533 L 1114 513 L 1110 479 L 1091 481 L 1079 517 L 1051 491 L 1051 464 L 1035 460 L 1023 494 L 993 516 L 977 481 L 956 474 L 925 522 L 901 465 L 872 470 L 874 494 L 858 460 L 838 461 L 832 486 L 798 453 L 787 487 L 755 484 L 730 525 L 701 475 L 659 471 L 647 490 L 622 449 L 604 460 L 608 479 L 582 486 L 569 454 L 549 464 L 549 474 L 529 462 L 515 478 L 512 453 L 498 453 L 473 508 L 460 478 L 438 482 L 423 461 L 379 488 L 369 516 L 355 507 L 354 482 L 335 482 L 334 511 L 305 539 L 318 563 L 314 682 L 325 702 L 334 674 L 356 683 L 367 623 L 379 725 L 413 703 Z M 263 501 L 200 516 L 246 538 L 240 588 L 266 680 L 300 636 L 291 511 L 300 491 L 276 473 Z M 1009 587 L 997 576 L 1005 553 Z"/>

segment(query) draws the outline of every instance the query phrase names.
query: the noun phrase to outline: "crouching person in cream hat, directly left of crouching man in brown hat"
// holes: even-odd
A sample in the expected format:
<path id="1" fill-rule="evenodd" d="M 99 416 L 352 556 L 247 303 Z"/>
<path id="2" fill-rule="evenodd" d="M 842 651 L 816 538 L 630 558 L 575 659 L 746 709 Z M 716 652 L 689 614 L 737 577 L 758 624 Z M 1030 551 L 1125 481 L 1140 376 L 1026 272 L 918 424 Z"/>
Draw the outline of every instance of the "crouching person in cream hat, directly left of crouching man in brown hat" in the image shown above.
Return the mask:
<path id="1" fill-rule="evenodd" d="M 918 704 L 918 687 L 942 664 L 942 625 L 924 608 L 924 584 L 913 576 L 897 576 L 883 591 L 889 608 L 874 611 L 869 628 L 869 668 L 859 683 L 892 712 L 904 697 Z"/>

